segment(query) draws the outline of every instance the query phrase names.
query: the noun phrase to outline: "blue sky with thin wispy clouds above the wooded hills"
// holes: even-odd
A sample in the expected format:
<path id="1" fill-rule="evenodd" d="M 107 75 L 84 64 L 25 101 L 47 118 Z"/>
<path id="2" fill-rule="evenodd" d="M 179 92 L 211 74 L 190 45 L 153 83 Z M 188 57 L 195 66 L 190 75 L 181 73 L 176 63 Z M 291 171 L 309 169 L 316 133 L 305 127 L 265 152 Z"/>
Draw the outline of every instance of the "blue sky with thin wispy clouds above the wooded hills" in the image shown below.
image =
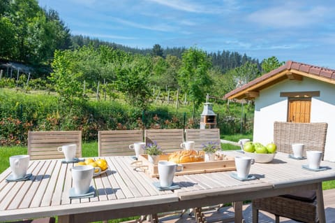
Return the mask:
<path id="1" fill-rule="evenodd" d="M 335 69 L 333 1 L 38 0 L 71 34 L 134 48 L 195 46 L 207 52 L 292 60 Z"/>

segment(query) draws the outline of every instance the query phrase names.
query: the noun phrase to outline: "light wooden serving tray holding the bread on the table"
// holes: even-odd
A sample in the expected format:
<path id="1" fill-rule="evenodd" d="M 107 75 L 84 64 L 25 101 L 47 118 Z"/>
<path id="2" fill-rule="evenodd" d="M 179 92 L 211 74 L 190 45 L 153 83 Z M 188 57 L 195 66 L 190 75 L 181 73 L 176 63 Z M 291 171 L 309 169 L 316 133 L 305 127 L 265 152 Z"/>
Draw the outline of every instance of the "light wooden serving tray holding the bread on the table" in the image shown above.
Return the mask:
<path id="1" fill-rule="evenodd" d="M 161 154 L 159 160 L 168 160 L 170 154 Z M 227 159 L 228 158 L 228 159 Z M 133 164 L 138 168 L 141 168 L 151 178 L 157 178 L 158 165 L 151 164 L 148 161 L 147 154 L 140 154 L 138 160 Z M 195 173 L 211 173 L 220 171 L 234 171 L 236 170 L 234 157 L 226 157 L 225 160 L 215 161 L 198 161 L 191 163 L 183 163 L 183 171 L 176 172 L 175 175 L 186 175 Z"/>

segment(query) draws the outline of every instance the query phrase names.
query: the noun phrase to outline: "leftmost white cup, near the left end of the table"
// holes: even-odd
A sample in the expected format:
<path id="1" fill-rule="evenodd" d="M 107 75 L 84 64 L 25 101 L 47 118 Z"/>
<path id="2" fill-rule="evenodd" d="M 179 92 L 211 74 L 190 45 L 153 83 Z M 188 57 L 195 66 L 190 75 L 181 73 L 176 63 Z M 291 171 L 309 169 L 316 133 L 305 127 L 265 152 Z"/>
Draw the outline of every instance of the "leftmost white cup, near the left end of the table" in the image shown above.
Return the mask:
<path id="1" fill-rule="evenodd" d="M 10 169 L 14 179 L 24 178 L 29 166 L 29 155 L 16 155 L 9 157 Z"/>

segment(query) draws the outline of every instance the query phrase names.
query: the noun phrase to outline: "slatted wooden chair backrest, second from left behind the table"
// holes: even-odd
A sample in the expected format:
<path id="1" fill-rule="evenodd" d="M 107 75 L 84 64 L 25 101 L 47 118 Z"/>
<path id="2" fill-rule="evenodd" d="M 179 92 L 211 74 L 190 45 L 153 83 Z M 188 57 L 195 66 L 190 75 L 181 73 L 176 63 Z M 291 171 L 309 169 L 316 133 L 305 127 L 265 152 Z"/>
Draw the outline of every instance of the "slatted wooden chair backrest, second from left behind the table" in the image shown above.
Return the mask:
<path id="1" fill-rule="evenodd" d="M 143 142 L 142 130 L 98 131 L 99 157 L 134 155 L 129 145 L 137 142 Z"/>

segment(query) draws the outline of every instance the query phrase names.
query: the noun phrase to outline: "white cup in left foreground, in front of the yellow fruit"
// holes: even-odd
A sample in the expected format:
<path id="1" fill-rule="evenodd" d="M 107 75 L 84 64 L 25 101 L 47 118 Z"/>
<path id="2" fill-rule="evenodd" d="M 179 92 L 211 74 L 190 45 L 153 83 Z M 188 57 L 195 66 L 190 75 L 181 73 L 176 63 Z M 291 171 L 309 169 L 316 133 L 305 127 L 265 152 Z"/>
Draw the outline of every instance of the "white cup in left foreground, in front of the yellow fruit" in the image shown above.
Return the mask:
<path id="1" fill-rule="evenodd" d="M 75 189 L 76 195 L 89 192 L 89 186 L 91 185 L 91 180 L 96 169 L 98 170 L 98 173 L 96 174 L 100 174 L 101 168 L 93 167 L 91 165 L 73 166 L 73 168 L 70 169 L 72 172 L 73 188 Z"/>

